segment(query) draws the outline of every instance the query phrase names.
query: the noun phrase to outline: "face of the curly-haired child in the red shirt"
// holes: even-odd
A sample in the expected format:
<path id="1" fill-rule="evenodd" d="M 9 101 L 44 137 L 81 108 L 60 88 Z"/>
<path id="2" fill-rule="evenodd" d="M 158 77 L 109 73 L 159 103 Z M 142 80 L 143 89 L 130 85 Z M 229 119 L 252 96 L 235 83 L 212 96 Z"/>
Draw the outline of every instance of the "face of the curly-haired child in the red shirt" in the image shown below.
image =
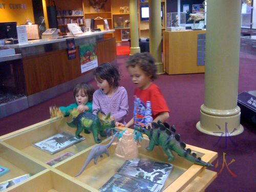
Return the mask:
<path id="1" fill-rule="evenodd" d="M 146 73 L 140 69 L 139 66 L 135 66 L 134 68 L 129 67 L 128 71 L 131 75 L 132 81 L 139 89 L 144 90 L 150 86 L 152 82 L 151 76 L 146 75 Z"/>

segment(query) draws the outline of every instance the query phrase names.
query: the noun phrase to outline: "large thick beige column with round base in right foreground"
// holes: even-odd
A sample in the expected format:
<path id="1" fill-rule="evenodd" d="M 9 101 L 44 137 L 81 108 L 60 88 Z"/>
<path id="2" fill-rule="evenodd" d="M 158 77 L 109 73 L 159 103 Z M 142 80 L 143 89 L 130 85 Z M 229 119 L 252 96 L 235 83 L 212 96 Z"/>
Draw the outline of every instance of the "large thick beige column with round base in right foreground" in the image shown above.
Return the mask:
<path id="1" fill-rule="evenodd" d="M 205 99 L 197 129 L 208 135 L 244 130 L 237 105 L 240 28 L 241 0 L 207 0 Z"/>

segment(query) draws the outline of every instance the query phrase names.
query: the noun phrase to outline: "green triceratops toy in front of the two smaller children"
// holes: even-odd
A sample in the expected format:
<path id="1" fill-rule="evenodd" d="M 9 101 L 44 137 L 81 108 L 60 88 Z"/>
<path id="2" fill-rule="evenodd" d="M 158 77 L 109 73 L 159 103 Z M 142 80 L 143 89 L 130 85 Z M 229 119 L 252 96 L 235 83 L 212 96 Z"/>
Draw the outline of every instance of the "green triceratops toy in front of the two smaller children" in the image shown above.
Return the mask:
<path id="1" fill-rule="evenodd" d="M 105 137 L 104 130 L 115 127 L 115 120 L 110 118 L 110 113 L 105 116 L 102 112 L 98 111 L 97 115 L 89 112 L 80 113 L 73 119 L 72 122 L 68 123 L 70 127 L 77 127 L 76 138 L 80 139 L 82 136 L 79 135 L 82 131 L 86 134 L 93 133 L 95 143 L 100 143 L 101 140 L 98 138 L 98 133 L 101 137 Z"/>

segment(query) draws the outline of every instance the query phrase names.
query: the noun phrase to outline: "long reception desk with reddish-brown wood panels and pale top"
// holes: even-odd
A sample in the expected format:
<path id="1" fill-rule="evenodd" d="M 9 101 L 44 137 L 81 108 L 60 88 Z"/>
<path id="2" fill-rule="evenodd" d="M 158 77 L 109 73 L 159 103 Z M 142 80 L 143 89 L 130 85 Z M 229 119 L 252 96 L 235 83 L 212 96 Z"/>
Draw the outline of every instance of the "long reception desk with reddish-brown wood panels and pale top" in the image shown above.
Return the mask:
<path id="1" fill-rule="evenodd" d="M 22 62 L 13 61 L 11 64 L 14 70 L 19 71 L 14 80 L 23 82 L 19 84 L 22 84 L 22 94 L 25 93 L 27 96 L 28 106 L 65 93 L 73 89 L 78 82 L 93 79 L 92 73 L 88 74 L 91 70 L 81 72 L 79 46 L 96 43 L 98 65 L 103 62 L 114 62 L 116 60 L 115 38 L 103 36 L 113 31 L 115 30 L 86 32 L 75 37 L 38 39 L 30 40 L 25 44 L 4 45 L 4 47 L 14 48 L 16 54 L 22 55 Z M 72 38 L 76 46 L 76 57 L 69 59 L 67 39 Z"/>

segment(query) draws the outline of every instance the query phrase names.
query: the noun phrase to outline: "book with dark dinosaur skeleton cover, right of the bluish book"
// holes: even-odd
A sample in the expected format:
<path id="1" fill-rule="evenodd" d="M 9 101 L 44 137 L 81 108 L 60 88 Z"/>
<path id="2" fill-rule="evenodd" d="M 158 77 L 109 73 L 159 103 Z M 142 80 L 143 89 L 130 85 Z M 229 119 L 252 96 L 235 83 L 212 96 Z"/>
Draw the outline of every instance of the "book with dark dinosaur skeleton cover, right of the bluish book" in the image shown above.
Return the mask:
<path id="1" fill-rule="evenodd" d="M 126 160 L 118 170 L 118 173 L 147 179 L 152 182 L 164 185 L 172 169 L 173 165 L 169 163 L 132 159 Z"/>

